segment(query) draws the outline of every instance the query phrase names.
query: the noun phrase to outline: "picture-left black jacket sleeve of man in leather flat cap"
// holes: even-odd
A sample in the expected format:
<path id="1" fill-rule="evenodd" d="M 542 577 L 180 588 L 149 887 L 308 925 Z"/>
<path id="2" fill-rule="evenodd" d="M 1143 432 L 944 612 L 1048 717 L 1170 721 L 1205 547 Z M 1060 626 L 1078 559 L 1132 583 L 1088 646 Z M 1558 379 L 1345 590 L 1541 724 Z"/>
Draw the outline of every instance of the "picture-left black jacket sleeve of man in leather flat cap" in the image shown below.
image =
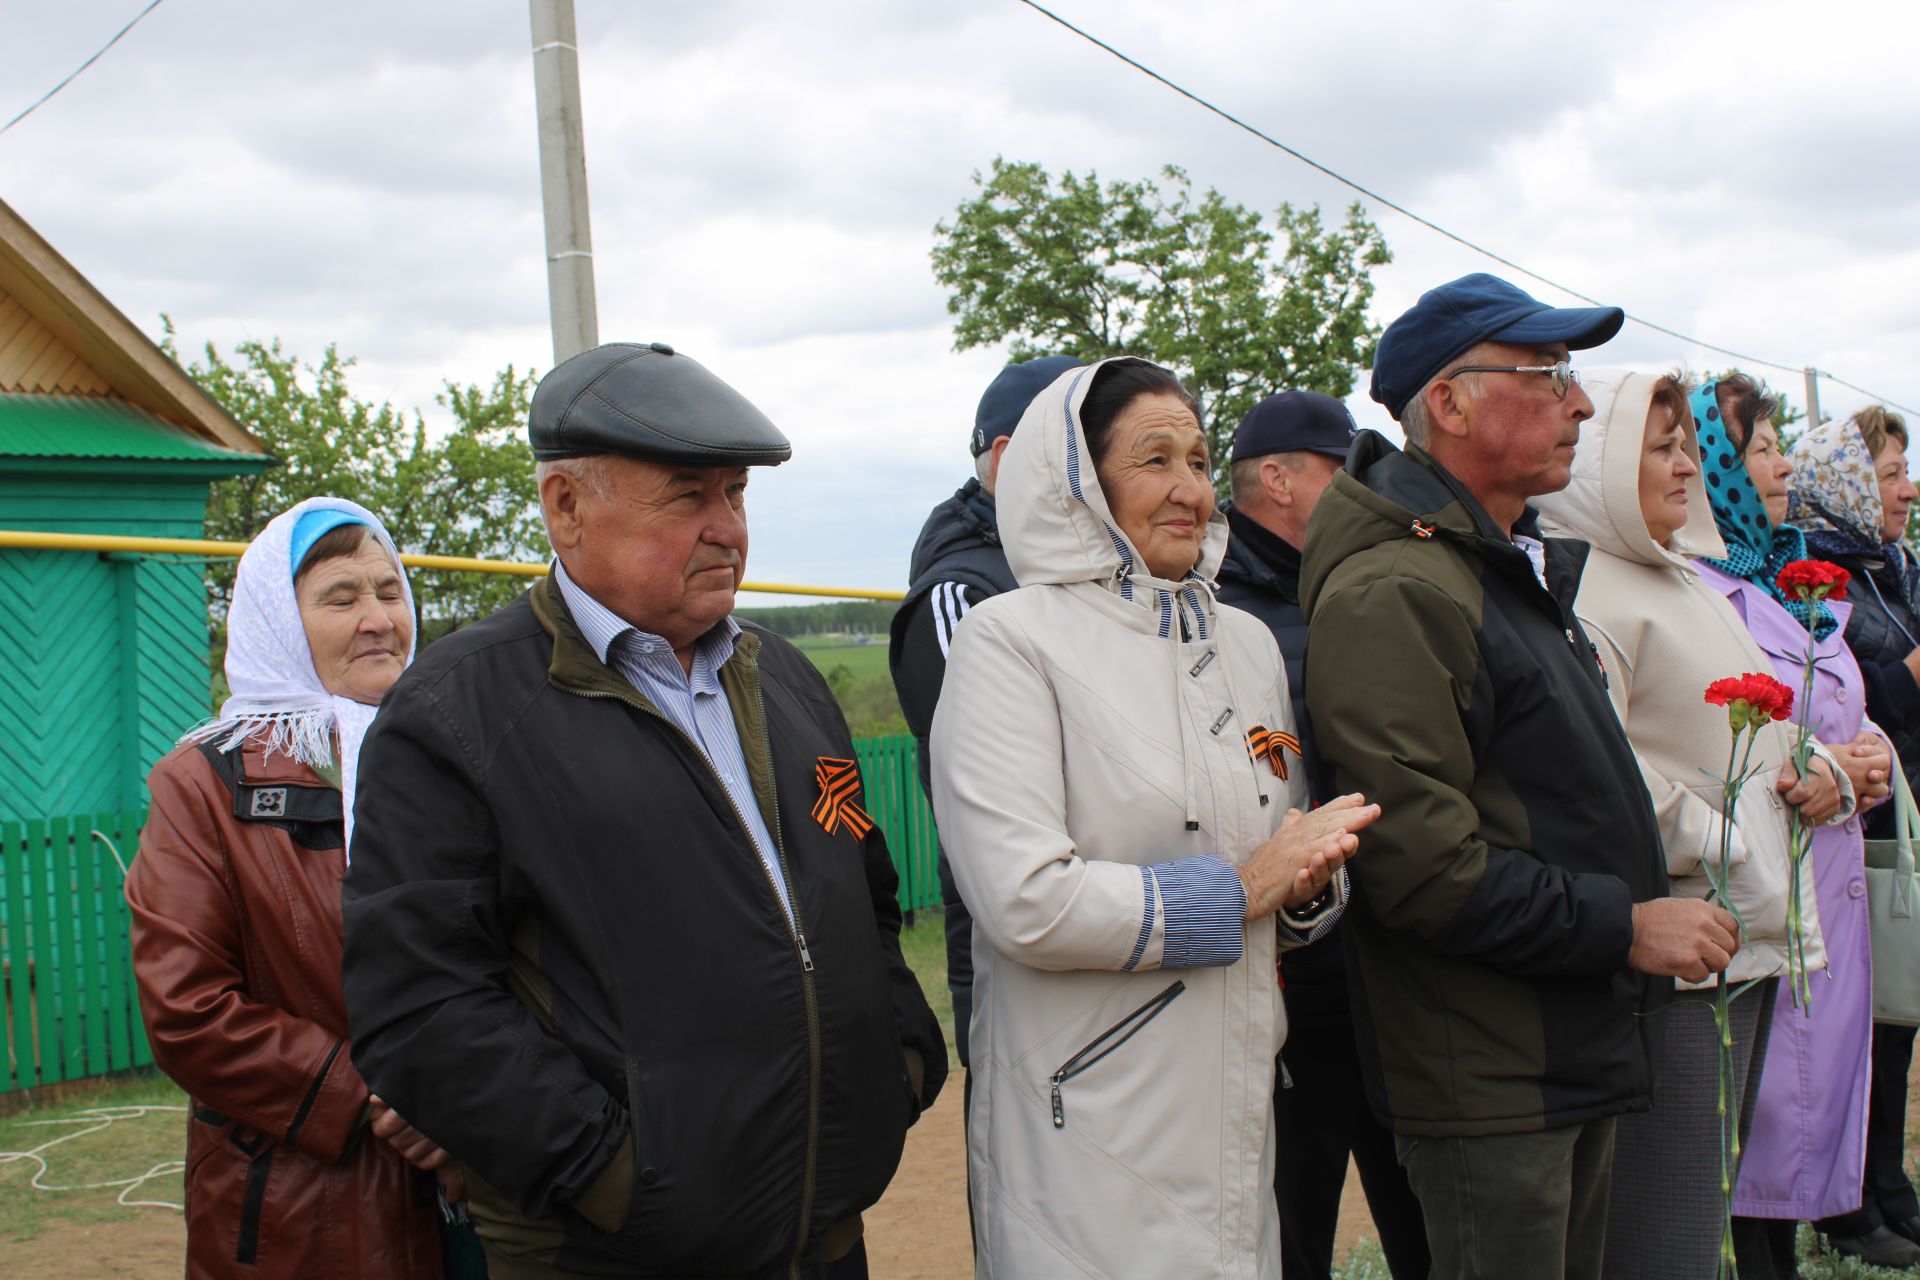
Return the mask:
<path id="1" fill-rule="evenodd" d="M 626 1203 L 626 1107 L 507 988 L 499 837 L 453 722 L 401 681 L 367 733 L 342 892 L 353 1065 L 536 1219 Z M 597 1184 L 599 1182 L 599 1184 Z"/>

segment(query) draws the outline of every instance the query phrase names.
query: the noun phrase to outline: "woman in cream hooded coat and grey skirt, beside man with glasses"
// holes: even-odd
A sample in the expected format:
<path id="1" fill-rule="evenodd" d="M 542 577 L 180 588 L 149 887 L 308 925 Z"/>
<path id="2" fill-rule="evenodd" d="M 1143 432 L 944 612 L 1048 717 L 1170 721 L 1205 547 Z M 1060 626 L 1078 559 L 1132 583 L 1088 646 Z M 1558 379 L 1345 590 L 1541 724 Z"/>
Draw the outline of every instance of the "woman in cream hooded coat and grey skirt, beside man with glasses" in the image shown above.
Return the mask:
<path id="1" fill-rule="evenodd" d="M 1536 499 L 1555 533 L 1592 543 L 1574 612 L 1607 672 L 1607 693 L 1640 760 L 1667 848 L 1676 896 L 1705 898 L 1707 865 L 1722 848 L 1720 777 L 1730 729 L 1703 700 L 1715 679 L 1770 672 L 1726 597 L 1703 583 L 1690 555 L 1722 557 L 1701 482 L 1686 388 L 1674 378 L 1588 370 L 1594 416 L 1580 426 L 1572 482 Z M 1759 986 L 1734 1002 L 1734 1103 L 1741 1136 L 1751 1123 L 1788 942 L 1788 804 L 1814 821 L 1843 821 L 1853 793 L 1832 758 L 1803 785 L 1788 723 L 1761 731 L 1755 777 L 1726 841 L 1728 896 L 1745 938 L 1726 977 Z M 1836 779 L 1839 779 L 1836 783 Z M 1809 904 L 1809 969 L 1822 969 L 1812 869 L 1801 867 Z M 1682 988 L 1690 986 L 1680 983 Z M 1699 986 L 1711 986 L 1707 983 Z M 1620 1117 L 1613 1157 L 1605 1274 L 1697 1280 L 1715 1274 L 1726 1199 L 1720 1190 L 1718 1067 L 1705 994 L 1682 992 L 1663 1015 L 1653 1111 Z"/>

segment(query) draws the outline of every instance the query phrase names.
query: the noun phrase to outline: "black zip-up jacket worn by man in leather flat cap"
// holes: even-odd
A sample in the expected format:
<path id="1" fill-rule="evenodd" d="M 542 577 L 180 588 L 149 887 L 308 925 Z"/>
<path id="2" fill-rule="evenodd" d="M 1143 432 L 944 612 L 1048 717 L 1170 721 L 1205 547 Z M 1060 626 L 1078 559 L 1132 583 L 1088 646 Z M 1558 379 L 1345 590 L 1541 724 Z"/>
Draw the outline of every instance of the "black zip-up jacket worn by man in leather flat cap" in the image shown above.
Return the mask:
<path id="1" fill-rule="evenodd" d="M 885 837 L 812 814 L 816 766 L 852 758 L 826 681 L 753 626 L 720 679 L 793 925 L 720 777 L 551 578 L 428 649 L 361 754 L 353 1061 L 566 1270 L 818 1274 L 945 1079 Z"/>

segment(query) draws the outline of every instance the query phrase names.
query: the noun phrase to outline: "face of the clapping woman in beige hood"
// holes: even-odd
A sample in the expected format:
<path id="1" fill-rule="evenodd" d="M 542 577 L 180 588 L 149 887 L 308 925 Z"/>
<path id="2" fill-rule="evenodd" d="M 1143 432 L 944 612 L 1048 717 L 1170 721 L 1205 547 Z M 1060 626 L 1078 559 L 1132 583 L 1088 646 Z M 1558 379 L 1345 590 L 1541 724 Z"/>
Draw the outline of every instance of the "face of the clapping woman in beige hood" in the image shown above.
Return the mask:
<path id="1" fill-rule="evenodd" d="M 1114 522 L 1154 578 L 1185 578 L 1213 514 L 1206 436 L 1179 395 L 1135 395 L 1094 464 Z"/>

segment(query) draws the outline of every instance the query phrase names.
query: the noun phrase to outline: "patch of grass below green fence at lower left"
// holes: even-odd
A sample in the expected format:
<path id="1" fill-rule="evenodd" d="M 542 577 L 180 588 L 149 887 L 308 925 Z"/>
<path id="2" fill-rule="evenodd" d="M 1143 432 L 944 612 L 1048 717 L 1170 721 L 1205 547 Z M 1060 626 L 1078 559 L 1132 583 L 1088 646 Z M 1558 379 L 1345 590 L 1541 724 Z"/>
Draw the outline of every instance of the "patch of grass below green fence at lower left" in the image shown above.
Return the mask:
<path id="1" fill-rule="evenodd" d="M 144 1115 L 138 1107 L 150 1109 Z M 0 1117 L 0 1240 L 33 1240 L 54 1224 L 96 1224 L 123 1221 L 134 1213 L 173 1213 L 173 1209 L 127 1207 L 129 1199 L 180 1203 L 179 1161 L 186 1155 L 186 1096 L 163 1075 L 132 1075 L 102 1080 L 58 1103 L 29 1107 Z M 113 1119 L 108 1119 L 113 1117 Z M 104 1125 L 104 1126 L 102 1126 Z M 100 1126 L 96 1132 L 86 1132 Z M 31 1151 L 63 1134 L 75 1134 L 40 1151 L 35 1159 L 8 1153 Z M 132 1190 L 94 1186 L 136 1178 L 159 1165 L 171 1165 Z M 40 1186 L 35 1186 L 38 1178 Z M 84 1190 L 40 1190 L 40 1188 Z"/>

